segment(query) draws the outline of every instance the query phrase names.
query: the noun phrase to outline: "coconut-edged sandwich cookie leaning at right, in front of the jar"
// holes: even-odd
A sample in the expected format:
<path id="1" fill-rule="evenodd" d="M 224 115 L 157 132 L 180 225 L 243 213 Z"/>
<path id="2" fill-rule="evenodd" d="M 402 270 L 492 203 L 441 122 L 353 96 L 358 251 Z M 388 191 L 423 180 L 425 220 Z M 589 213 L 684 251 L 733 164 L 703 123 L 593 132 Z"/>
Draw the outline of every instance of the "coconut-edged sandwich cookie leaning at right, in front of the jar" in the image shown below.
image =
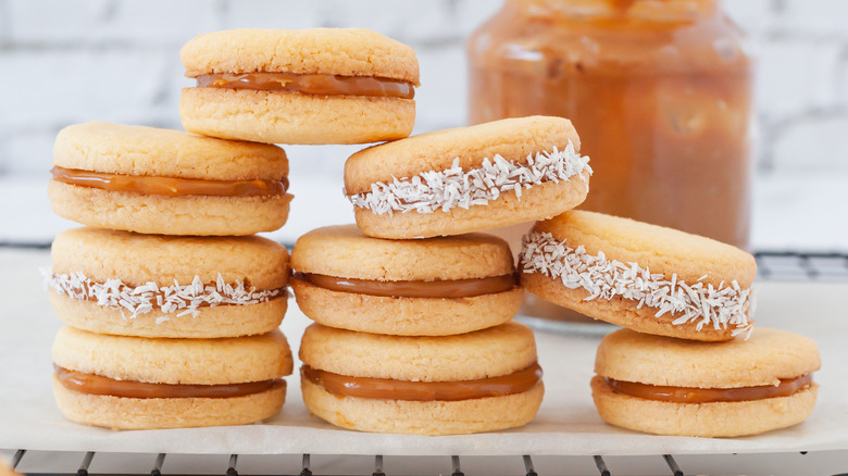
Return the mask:
<path id="1" fill-rule="evenodd" d="M 640 333 L 727 340 L 752 325 L 752 255 L 628 218 L 571 211 L 537 223 L 519 274 L 546 301 Z"/>

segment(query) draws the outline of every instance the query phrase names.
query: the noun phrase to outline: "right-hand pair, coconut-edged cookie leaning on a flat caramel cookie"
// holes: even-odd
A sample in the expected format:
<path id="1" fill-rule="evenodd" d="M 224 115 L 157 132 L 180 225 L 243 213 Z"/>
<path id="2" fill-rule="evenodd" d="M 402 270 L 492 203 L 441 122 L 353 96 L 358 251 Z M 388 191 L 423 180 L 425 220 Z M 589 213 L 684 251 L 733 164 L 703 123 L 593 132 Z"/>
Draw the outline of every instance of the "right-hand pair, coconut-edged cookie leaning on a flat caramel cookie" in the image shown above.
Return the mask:
<path id="1" fill-rule="evenodd" d="M 753 256 L 704 237 L 571 211 L 525 237 L 527 291 L 626 327 L 598 348 L 591 391 L 613 425 L 733 437 L 798 424 L 815 404 L 815 343 L 752 328 Z"/>

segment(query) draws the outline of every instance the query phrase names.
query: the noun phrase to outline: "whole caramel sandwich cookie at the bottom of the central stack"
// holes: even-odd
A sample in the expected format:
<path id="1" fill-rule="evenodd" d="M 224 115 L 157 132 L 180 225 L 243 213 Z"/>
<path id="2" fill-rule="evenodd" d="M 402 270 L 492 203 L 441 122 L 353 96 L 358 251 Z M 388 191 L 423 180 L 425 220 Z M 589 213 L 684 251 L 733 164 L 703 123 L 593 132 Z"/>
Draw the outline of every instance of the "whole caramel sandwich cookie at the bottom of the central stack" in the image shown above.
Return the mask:
<path id="1" fill-rule="evenodd" d="M 533 333 L 507 323 L 447 337 L 313 324 L 300 345 L 310 412 L 363 431 L 458 435 L 521 426 L 545 392 Z"/>

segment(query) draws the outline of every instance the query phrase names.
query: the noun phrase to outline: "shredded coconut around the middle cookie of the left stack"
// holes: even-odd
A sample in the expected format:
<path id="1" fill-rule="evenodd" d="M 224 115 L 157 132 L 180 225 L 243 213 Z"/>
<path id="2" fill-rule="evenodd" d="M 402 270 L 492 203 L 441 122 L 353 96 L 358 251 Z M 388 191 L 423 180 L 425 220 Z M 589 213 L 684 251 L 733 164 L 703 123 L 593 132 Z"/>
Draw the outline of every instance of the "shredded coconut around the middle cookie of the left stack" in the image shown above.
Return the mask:
<path id="1" fill-rule="evenodd" d="M 190 314 L 197 317 L 200 306 L 211 308 L 221 304 L 249 305 L 269 301 L 278 296 L 288 296 L 285 289 L 271 289 L 258 291 L 253 288 L 245 288 L 245 283 L 237 279 L 235 284 L 224 281 L 221 273 L 213 285 L 204 285 L 199 276 L 190 285 L 180 285 L 174 280 L 173 286 L 159 286 L 149 281 L 141 286 L 132 287 L 121 279 L 107 279 L 105 283 L 97 283 L 86 277 L 82 272 L 70 274 L 54 274 L 45 272 L 47 285 L 72 299 L 85 299 L 97 301 L 98 305 L 113 308 L 129 313 L 129 318 L 139 314 L 146 314 L 154 309 L 177 317 Z M 167 321 L 167 317 L 159 317 L 157 324 Z"/>

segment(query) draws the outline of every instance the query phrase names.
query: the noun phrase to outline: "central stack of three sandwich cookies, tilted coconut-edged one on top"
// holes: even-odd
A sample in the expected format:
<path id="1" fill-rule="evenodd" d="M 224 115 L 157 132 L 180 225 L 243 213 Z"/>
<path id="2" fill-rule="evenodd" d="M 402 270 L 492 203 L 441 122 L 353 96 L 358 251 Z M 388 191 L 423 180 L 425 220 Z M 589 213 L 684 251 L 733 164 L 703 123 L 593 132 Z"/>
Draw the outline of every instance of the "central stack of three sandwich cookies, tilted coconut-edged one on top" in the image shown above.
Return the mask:
<path id="1" fill-rule="evenodd" d="M 298 305 L 309 410 L 347 428 L 422 435 L 533 419 L 544 394 L 533 333 L 512 322 L 512 252 L 476 231 L 579 203 L 590 170 L 571 124 L 532 117 L 424 134 L 346 163 L 353 225 L 302 236 Z"/>

